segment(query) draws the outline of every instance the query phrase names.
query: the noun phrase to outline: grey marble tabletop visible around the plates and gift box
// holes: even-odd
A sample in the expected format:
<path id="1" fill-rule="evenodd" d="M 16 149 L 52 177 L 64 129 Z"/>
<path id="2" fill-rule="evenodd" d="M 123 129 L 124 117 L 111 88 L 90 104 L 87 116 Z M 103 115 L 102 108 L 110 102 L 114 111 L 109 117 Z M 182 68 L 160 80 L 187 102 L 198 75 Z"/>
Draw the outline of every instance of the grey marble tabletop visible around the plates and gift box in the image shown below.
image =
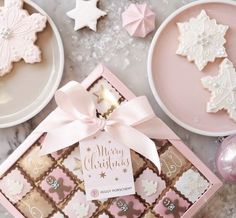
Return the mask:
<path id="1" fill-rule="evenodd" d="M 160 109 L 152 96 L 147 80 L 146 59 L 152 34 L 145 39 L 131 38 L 121 27 L 121 12 L 131 2 L 147 2 L 157 15 L 157 27 L 174 10 L 192 0 L 100 0 L 100 8 L 108 12 L 101 19 L 98 32 L 87 29 L 73 31 L 73 21 L 65 13 L 75 6 L 75 0 L 33 0 L 57 24 L 65 47 L 65 71 L 61 85 L 74 79 L 83 80 L 100 62 L 107 65 L 137 95 L 146 94 L 161 117 L 211 169 L 215 169 L 216 138 L 199 136 L 179 127 Z M 40 121 L 55 107 L 53 101 L 30 121 L 8 129 L 0 129 L 0 161 L 3 162 Z M 236 218 L 236 186 L 225 184 L 216 196 L 206 203 L 198 218 Z M 0 217 L 11 217 L 0 207 Z"/>

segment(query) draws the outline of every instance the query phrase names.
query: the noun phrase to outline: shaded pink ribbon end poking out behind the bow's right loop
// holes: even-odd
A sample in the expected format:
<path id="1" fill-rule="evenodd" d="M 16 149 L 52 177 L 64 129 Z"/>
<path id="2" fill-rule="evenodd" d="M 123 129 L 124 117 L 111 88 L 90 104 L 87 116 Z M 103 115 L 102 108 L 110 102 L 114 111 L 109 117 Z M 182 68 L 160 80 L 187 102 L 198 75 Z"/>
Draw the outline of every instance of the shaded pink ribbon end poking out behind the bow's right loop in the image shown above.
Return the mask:
<path id="1" fill-rule="evenodd" d="M 151 139 L 180 140 L 180 138 L 158 117 L 134 126 Z"/>

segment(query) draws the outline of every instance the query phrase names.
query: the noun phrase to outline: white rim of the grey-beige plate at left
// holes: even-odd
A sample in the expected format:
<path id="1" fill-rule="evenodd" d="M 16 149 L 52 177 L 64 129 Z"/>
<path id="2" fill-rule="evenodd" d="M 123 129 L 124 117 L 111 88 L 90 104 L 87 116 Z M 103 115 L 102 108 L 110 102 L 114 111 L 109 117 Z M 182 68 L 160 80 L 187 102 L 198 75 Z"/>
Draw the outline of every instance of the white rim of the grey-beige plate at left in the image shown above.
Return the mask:
<path id="1" fill-rule="evenodd" d="M 64 72 L 64 64 L 65 64 L 64 47 L 63 47 L 63 42 L 62 42 L 61 35 L 59 33 L 59 30 L 58 30 L 56 24 L 54 23 L 52 18 L 39 5 L 37 5 L 35 2 L 33 2 L 31 0 L 24 0 L 24 4 L 28 4 L 29 6 L 33 7 L 37 12 L 39 12 L 40 14 L 47 17 L 47 22 L 49 23 L 50 27 L 52 28 L 53 34 L 55 35 L 56 42 L 58 44 L 58 50 L 59 50 L 59 67 L 58 67 L 58 71 L 57 71 L 58 73 L 57 73 L 56 80 L 53 83 L 52 88 L 50 89 L 50 92 L 44 98 L 44 100 L 42 101 L 41 104 L 39 104 L 29 114 L 27 114 L 25 116 L 22 116 L 19 119 L 16 119 L 16 120 L 11 121 L 11 122 L 0 123 L 0 129 L 19 125 L 23 122 L 28 121 L 32 117 L 36 116 L 40 111 L 42 111 L 47 106 L 47 104 L 51 101 L 51 99 L 53 98 L 53 96 L 55 94 L 55 91 L 58 89 L 58 87 L 60 85 L 60 82 L 61 82 L 61 79 L 62 79 L 62 76 L 63 76 L 63 72 Z"/>

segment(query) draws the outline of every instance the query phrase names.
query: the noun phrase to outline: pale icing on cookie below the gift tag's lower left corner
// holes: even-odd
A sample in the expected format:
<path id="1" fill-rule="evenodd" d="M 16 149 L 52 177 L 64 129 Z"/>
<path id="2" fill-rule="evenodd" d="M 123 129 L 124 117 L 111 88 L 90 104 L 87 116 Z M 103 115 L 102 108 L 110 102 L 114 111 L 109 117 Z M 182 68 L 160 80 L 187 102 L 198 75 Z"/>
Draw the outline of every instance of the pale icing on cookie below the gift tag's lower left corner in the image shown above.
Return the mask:
<path id="1" fill-rule="evenodd" d="M 76 209 L 76 205 L 79 205 L 79 204 L 85 204 L 85 205 L 89 204 L 88 215 L 86 217 L 91 217 L 97 209 L 97 206 L 92 201 L 87 201 L 84 193 L 78 190 L 75 193 L 75 195 L 72 197 L 72 199 L 69 201 L 69 203 L 65 206 L 65 208 L 63 209 L 63 212 L 68 217 L 77 217 L 75 209 Z"/>

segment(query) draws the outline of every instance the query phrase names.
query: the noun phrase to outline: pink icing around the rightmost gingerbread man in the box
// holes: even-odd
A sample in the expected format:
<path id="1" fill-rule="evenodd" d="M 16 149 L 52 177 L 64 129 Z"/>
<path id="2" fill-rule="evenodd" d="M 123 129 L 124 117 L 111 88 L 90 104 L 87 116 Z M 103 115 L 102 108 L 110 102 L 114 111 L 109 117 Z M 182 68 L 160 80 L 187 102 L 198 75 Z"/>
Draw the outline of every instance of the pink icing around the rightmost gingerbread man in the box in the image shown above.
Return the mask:
<path id="1" fill-rule="evenodd" d="M 165 199 L 165 198 L 169 198 L 172 201 L 178 199 L 179 206 L 186 207 L 186 211 L 190 205 L 186 200 L 181 198 L 177 193 L 175 193 L 173 190 L 170 189 L 170 191 L 168 191 L 165 194 L 165 196 L 161 199 L 161 201 L 159 201 L 159 203 L 153 209 L 154 212 L 156 212 L 156 214 L 160 214 L 161 216 L 163 216 L 165 218 L 175 218 L 172 214 L 168 214 L 168 215 L 166 214 L 167 208 L 164 207 L 164 205 L 163 205 L 163 199 Z"/>

